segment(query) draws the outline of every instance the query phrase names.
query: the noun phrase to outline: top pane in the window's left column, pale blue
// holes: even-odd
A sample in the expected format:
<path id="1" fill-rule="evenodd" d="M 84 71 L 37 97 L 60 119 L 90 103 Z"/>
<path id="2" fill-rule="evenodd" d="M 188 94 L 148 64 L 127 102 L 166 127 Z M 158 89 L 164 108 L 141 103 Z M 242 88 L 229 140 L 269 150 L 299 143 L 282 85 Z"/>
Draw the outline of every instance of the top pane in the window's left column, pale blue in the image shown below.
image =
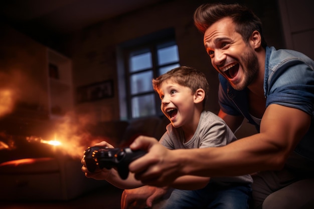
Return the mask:
<path id="1" fill-rule="evenodd" d="M 150 52 L 130 55 L 130 72 L 136 72 L 151 67 L 152 63 Z"/>

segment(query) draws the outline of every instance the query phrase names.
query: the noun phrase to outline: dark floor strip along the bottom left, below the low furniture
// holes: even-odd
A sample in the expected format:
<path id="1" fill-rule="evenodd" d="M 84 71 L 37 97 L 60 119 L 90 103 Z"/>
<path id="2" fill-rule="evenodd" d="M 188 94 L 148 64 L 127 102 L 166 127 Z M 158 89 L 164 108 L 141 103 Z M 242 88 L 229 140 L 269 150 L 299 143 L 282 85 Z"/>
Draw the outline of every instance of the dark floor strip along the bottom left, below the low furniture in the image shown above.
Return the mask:
<path id="1" fill-rule="evenodd" d="M 122 189 L 109 184 L 67 201 L 0 201 L 1 209 L 120 209 Z"/>

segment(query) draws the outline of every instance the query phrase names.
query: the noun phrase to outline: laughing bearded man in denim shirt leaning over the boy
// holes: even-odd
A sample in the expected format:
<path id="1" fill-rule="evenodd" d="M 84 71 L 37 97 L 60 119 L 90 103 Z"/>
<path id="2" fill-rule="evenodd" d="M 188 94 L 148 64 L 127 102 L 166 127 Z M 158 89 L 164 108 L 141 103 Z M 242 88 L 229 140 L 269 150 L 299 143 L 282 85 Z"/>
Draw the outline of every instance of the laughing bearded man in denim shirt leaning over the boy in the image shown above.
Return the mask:
<path id="1" fill-rule="evenodd" d="M 194 21 L 220 73 L 218 115 L 233 131 L 246 118 L 259 133 L 224 147 L 172 151 L 139 137 L 130 147 L 148 154 L 132 162 L 130 171 L 152 186 L 167 186 L 182 175 L 256 173 L 254 208 L 312 208 L 314 62 L 267 47 L 260 20 L 239 5 L 202 5 Z"/>

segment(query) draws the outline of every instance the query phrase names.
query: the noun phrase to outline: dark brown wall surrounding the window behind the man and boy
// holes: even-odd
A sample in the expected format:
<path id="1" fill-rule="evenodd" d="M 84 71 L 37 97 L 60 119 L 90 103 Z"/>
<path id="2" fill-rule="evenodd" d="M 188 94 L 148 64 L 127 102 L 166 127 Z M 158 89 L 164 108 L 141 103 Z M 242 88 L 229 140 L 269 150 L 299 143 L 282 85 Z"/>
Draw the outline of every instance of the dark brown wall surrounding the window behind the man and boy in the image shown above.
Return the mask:
<path id="1" fill-rule="evenodd" d="M 95 120 L 119 119 L 117 57 L 116 46 L 122 42 L 136 39 L 167 28 L 174 28 L 179 48 L 181 65 L 192 66 L 203 71 L 208 77 L 211 91 L 207 109 L 217 113 L 218 79 L 210 65 L 209 57 L 203 46 L 203 36 L 193 23 L 195 9 L 209 1 L 175 0 L 147 7 L 133 13 L 101 22 L 80 32 L 72 34 L 63 42 L 62 53 L 73 62 L 74 89 L 103 80 L 114 81 L 114 98 L 78 104 L 80 113 L 95 115 Z M 269 45 L 283 47 L 281 23 L 277 2 L 264 1 L 220 1 L 244 4 L 251 8 L 262 20 L 265 38 Z M 108 116 L 104 114 L 110 113 Z M 103 115 L 103 117 L 101 116 Z"/>

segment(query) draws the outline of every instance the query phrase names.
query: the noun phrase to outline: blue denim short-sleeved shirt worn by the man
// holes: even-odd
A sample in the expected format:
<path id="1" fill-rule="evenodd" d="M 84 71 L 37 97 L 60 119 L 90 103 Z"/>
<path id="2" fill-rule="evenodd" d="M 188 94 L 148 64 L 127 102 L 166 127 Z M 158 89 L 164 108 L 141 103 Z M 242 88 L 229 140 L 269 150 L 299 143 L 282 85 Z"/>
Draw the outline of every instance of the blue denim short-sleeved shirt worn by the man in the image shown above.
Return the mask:
<path id="1" fill-rule="evenodd" d="M 220 108 L 230 115 L 243 115 L 259 131 L 259 124 L 248 111 L 248 89 L 233 89 L 222 75 L 219 80 Z M 310 128 L 294 151 L 314 160 L 314 61 L 296 51 L 266 47 L 264 96 L 266 108 L 270 104 L 279 104 L 311 115 Z"/>

